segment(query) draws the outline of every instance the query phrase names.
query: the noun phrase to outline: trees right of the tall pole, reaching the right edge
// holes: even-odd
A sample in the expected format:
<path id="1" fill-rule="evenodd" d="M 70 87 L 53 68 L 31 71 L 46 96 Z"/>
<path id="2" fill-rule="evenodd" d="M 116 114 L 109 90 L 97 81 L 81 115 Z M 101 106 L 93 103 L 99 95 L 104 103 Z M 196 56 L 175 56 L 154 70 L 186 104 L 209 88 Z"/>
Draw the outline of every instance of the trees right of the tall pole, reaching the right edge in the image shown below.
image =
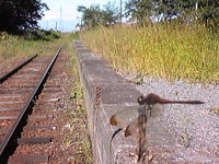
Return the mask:
<path id="1" fill-rule="evenodd" d="M 169 21 L 177 17 L 182 22 L 203 22 L 219 25 L 218 0 L 128 0 L 126 15 L 137 22 Z"/>

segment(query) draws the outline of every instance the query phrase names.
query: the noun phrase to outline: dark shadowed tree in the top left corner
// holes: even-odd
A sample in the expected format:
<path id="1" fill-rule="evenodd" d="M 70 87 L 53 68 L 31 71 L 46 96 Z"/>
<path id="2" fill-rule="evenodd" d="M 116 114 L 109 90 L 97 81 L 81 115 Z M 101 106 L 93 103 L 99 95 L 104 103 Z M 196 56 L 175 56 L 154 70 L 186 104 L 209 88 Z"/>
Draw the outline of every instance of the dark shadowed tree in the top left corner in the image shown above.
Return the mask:
<path id="1" fill-rule="evenodd" d="M 41 0 L 0 0 L 0 32 L 23 33 L 37 27 L 48 7 Z"/>

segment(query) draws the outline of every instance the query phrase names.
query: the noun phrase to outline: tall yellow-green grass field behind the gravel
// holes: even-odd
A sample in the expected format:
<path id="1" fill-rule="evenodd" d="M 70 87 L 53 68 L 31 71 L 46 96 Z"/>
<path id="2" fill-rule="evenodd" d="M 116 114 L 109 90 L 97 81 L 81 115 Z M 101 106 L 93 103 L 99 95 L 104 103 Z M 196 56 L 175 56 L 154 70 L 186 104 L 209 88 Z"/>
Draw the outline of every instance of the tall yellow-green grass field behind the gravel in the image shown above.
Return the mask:
<path id="1" fill-rule="evenodd" d="M 170 81 L 219 81 L 219 35 L 198 25 L 97 28 L 80 38 L 118 71 Z"/>

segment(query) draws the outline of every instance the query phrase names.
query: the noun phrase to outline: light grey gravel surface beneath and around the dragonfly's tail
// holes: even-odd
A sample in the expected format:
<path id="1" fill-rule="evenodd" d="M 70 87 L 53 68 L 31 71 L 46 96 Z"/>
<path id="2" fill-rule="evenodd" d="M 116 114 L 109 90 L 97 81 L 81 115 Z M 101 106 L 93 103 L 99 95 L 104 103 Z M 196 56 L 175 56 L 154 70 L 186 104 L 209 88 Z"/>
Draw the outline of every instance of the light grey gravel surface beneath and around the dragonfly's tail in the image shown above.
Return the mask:
<path id="1" fill-rule="evenodd" d="M 123 77 L 130 81 L 135 79 L 134 75 Z M 161 110 L 152 109 L 152 117 L 149 119 L 153 124 L 159 122 L 175 137 L 175 139 L 166 138 L 166 140 L 175 142 L 173 148 L 175 156 L 171 153 L 171 155 L 163 153 L 170 163 L 219 163 L 218 84 L 188 83 L 183 80 L 169 82 L 163 79 L 145 77 L 143 83 L 136 85 L 136 89 L 143 95 L 154 93 L 166 99 L 205 102 L 201 105 L 161 105 Z M 160 142 L 162 141 L 160 140 Z M 162 145 L 162 143 L 160 144 Z M 170 156 L 168 157 L 168 155 Z"/>

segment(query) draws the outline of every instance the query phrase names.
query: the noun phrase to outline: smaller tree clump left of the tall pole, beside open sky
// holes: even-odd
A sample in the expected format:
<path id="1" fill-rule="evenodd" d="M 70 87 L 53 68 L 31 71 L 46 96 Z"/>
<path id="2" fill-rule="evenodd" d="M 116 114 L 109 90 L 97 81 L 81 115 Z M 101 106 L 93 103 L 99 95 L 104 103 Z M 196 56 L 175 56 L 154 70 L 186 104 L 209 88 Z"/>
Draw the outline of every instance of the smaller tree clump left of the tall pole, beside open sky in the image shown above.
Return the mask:
<path id="1" fill-rule="evenodd" d="M 87 26 L 87 28 L 93 28 L 99 25 L 112 25 L 119 19 L 118 9 L 111 2 L 105 4 L 104 9 L 101 9 L 100 5 L 93 4 L 90 8 L 79 5 L 77 10 L 82 12 L 83 26 Z"/>

